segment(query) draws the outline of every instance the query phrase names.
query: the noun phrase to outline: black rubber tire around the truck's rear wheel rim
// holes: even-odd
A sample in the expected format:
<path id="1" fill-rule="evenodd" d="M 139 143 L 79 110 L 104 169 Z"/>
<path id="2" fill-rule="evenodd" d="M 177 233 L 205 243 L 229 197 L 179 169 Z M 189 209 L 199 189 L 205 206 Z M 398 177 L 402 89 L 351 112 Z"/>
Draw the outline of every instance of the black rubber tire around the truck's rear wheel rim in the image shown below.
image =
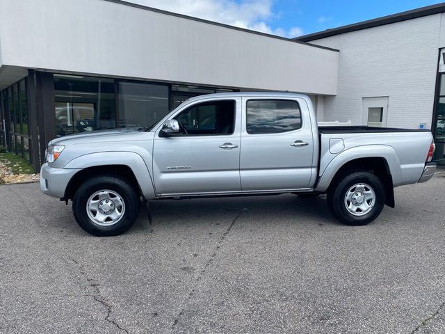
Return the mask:
<path id="1" fill-rule="evenodd" d="M 370 207 L 369 211 L 360 211 L 361 209 L 357 209 L 357 212 L 353 214 L 346 207 L 347 204 L 353 207 L 352 200 L 346 201 L 346 195 L 348 193 L 355 193 L 352 187 L 357 184 L 369 185 L 371 189 L 365 187 L 365 191 L 373 191 L 374 199 L 373 201 L 365 200 Z M 349 192 L 350 189 L 354 191 Z M 363 196 L 361 196 L 362 193 L 359 193 L 359 195 L 359 200 L 363 200 Z M 354 200 L 355 199 L 356 198 L 354 198 Z M 372 173 L 357 172 L 346 175 L 342 180 L 339 180 L 337 184 L 333 184 L 330 187 L 327 193 L 327 206 L 330 212 L 332 212 L 332 215 L 341 221 L 341 223 L 353 226 L 369 224 L 380 215 L 383 207 L 385 207 L 385 186 L 382 184 L 382 181 Z"/>

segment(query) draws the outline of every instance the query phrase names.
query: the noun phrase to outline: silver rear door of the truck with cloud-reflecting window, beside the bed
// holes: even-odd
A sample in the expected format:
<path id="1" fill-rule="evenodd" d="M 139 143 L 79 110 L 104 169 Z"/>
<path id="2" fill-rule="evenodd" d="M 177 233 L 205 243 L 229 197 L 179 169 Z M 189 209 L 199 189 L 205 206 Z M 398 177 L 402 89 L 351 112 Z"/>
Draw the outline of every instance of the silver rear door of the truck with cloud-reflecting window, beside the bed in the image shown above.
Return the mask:
<path id="1" fill-rule="evenodd" d="M 314 136 L 304 99 L 243 97 L 243 191 L 307 188 L 313 154 Z"/>

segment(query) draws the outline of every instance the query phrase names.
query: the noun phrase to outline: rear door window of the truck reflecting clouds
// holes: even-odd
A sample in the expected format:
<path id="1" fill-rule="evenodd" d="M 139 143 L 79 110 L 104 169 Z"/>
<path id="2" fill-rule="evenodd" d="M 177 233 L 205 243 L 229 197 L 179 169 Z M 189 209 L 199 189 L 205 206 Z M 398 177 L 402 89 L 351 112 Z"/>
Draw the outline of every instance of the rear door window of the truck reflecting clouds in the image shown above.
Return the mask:
<path id="1" fill-rule="evenodd" d="M 300 106 L 293 100 L 248 100 L 248 134 L 279 134 L 302 127 Z"/>

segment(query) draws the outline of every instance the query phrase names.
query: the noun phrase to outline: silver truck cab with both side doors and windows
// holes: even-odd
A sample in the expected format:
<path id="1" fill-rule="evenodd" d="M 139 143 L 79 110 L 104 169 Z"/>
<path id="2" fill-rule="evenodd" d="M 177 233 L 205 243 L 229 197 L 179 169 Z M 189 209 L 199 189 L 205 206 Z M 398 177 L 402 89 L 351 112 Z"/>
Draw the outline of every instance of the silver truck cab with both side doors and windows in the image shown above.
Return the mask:
<path id="1" fill-rule="evenodd" d="M 165 134 L 160 127 L 154 135 L 153 175 L 160 196 L 314 186 L 316 122 L 302 97 L 207 95 L 168 119 L 177 121 L 179 132 Z"/>

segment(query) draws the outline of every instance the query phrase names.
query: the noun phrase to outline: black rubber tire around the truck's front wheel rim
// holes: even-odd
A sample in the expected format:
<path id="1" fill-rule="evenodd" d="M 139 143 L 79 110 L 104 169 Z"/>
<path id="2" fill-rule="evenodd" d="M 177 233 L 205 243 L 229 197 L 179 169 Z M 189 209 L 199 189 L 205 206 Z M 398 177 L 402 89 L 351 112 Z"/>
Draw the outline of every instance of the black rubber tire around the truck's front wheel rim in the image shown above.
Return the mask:
<path id="1" fill-rule="evenodd" d="M 112 225 L 99 225 L 90 218 L 87 210 L 87 202 L 97 191 L 110 191 L 118 194 L 118 200 L 124 203 L 121 209 L 122 216 Z M 114 196 L 112 194 L 111 196 Z M 111 197 L 110 199 L 113 199 Z M 97 200 L 96 200 L 97 201 Z M 140 207 L 140 196 L 137 187 L 128 180 L 113 175 L 97 176 L 88 179 L 79 186 L 72 200 L 72 211 L 79 226 L 86 232 L 97 237 L 111 237 L 127 232 L 138 218 Z M 118 207 L 114 208 L 115 211 Z M 106 215 L 104 215 L 106 216 Z M 93 217 L 94 218 L 94 217 Z"/>

